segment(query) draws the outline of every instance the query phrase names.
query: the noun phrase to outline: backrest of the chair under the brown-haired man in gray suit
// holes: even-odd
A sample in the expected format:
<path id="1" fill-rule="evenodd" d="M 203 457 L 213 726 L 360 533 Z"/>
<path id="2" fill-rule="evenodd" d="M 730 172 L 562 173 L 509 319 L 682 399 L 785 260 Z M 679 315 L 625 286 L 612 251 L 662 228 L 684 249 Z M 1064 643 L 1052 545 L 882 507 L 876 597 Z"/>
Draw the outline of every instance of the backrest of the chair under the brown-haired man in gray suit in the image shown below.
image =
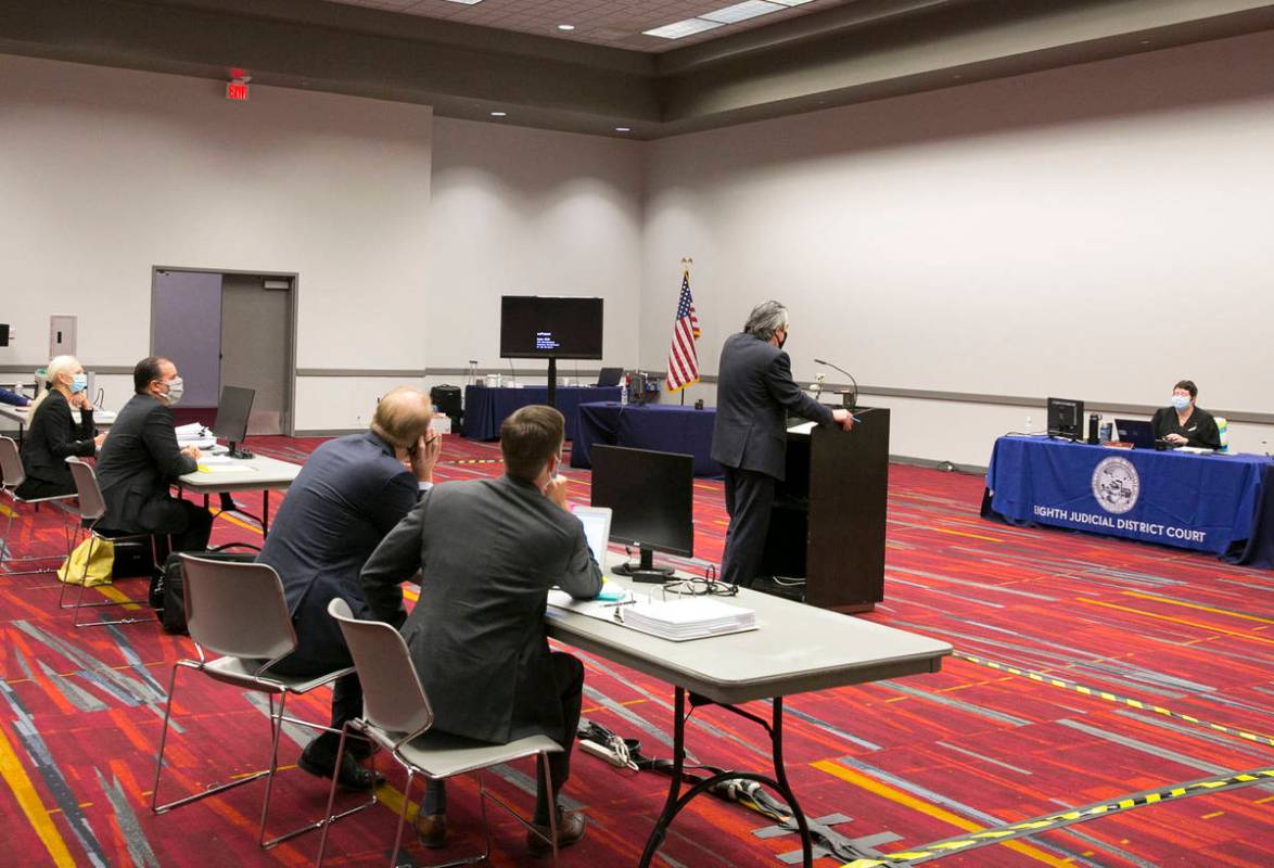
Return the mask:
<path id="1" fill-rule="evenodd" d="M 433 725 L 433 709 L 412 664 L 412 653 L 394 627 L 381 621 L 358 621 L 339 597 L 327 603 L 327 614 L 354 658 L 363 686 L 363 716 L 390 733 L 418 735 Z M 475 684 L 475 690 L 482 690 Z"/>

